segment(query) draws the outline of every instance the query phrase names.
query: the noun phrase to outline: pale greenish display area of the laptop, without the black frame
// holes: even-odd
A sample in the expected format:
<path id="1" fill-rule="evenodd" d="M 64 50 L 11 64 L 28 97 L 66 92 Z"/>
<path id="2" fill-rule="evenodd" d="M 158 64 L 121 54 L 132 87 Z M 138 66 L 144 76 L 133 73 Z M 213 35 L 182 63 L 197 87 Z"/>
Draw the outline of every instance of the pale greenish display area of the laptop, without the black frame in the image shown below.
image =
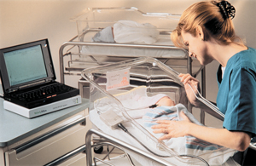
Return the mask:
<path id="1" fill-rule="evenodd" d="M 10 86 L 47 77 L 40 45 L 3 53 Z"/>

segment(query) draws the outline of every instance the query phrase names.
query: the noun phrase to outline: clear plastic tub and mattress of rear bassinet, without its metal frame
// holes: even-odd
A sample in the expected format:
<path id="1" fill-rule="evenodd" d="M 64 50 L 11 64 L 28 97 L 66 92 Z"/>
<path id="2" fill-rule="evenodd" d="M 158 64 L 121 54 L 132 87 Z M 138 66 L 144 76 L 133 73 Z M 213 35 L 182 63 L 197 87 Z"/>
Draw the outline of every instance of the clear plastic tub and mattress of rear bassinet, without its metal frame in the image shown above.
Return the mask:
<path id="1" fill-rule="evenodd" d="M 77 24 L 79 42 L 88 43 L 80 48 L 80 52 L 83 55 L 93 55 L 96 58 L 99 58 L 99 55 L 133 58 L 147 55 L 154 58 L 186 59 L 187 52 L 183 49 L 175 48 L 170 37 L 171 31 L 177 26 L 179 17 L 180 14 L 144 13 L 134 7 L 88 8 L 71 20 Z M 119 23 L 119 21 L 123 22 Z M 125 25 L 124 21 L 126 22 Z M 134 24 L 128 23 L 129 21 L 134 22 Z M 116 24 L 119 24 L 119 28 L 114 27 Z M 130 41 L 128 39 L 124 41 L 122 39 L 121 43 L 118 41 L 114 43 L 92 42 L 92 38 L 97 32 L 109 26 L 113 27 L 113 33 L 115 33 L 116 29 L 119 29 L 118 36 L 121 36 L 119 38 L 131 36 L 134 40 Z M 116 39 L 116 37 L 114 38 Z M 138 43 L 137 41 L 141 42 Z M 151 45 L 151 47 L 148 47 L 148 45 Z M 162 48 L 159 48 L 160 46 Z"/>

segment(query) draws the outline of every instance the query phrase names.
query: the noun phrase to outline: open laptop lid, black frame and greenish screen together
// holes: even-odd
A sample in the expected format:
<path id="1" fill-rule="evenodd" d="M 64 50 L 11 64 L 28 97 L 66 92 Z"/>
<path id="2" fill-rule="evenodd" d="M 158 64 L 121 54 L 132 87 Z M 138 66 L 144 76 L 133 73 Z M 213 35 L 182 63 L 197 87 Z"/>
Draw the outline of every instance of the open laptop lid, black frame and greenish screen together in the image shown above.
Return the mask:
<path id="1" fill-rule="evenodd" d="M 47 39 L 0 49 L 0 63 L 5 93 L 29 83 L 55 79 Z"/>

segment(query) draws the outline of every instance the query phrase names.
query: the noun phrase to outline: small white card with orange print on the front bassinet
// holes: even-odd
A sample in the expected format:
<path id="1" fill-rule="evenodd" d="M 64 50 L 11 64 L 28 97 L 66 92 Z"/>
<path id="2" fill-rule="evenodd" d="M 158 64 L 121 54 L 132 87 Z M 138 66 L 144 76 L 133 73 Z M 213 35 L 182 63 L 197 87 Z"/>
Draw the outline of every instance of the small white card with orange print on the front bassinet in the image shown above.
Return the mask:
<path id="1" fill-rule="evenodd" d="M 119 89 L 130 85 L 130 68 L 107 72 L 107 90 Z"/>

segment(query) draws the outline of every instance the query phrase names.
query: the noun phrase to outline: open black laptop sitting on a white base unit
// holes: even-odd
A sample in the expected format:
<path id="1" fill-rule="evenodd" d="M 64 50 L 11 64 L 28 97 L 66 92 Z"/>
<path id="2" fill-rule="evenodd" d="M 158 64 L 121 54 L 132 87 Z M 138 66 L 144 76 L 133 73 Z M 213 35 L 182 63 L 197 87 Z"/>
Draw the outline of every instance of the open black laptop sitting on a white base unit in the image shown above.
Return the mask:
<path id="1" fill-rule="evenodd" d="M 3 99 L 33 109 L 79 95 L 79 89 L 55 81 L 48 39 L 0 49 Z"/>

